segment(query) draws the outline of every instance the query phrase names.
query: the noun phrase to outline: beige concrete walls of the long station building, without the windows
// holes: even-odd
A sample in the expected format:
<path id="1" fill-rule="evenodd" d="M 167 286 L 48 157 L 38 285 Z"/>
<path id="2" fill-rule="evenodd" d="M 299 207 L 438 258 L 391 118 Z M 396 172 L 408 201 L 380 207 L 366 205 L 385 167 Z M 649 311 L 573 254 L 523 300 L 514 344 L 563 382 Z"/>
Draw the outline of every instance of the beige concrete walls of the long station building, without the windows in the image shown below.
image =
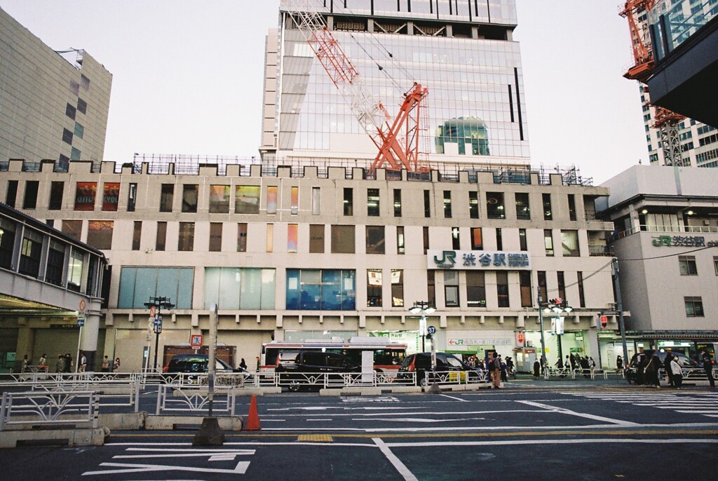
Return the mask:
<path id="1" fill-rule="evenodd" d="M 403 178 L 393 179 L 387 172 L 379 170 L 376 178 L 372 178 L 363 169 L 340 167 L 330 167 L 321 173 L 316 167 L 305 167 L 298 176 L 284 167 L 276 171 L 265 168 L 262 172 L 260 166 L 253 166 L 249 175 L 241 175 L 239 166 L 228 166 L 226 174 L 218 174 L 215 167 L 207 166 L 200 167 L 197 175 L 174 175 L 172 164 L 161 174 L 147 173 L 147 164 L 142 166 L 141 173 L 133 173 L 131 167 L 123 167 L 116 173 L 114 164 L 107 162 L 103 164 L 102 172 L 93 173 L 89 163 L 78 162 L 71 163 L 67 173 L 52 172 L 52 165 L 44 164 L 43 172 L 35 174 L 22 172 L 18 164 L 11 162 L 10 171 L 0 182 L 0 196 L 4 195 L 9 180 L 17 180 L 22 186 L 24 179 L 39 179 L 37 208 L 29 214 L 50 220 L 57 228 L 63 228 L 67 221 L 80 221 L 80 238 L 90 245 L 94 242 L 90 225 L 98 221 L 111 223 L 110 243 L 101 246 L 111 266 L 108 309 L 103 312 L 104 353 L 110 358 L 121 358 L 122 370 L 141 368 L 143 347 L 144 355 L 154 352 L 154 335 L 148 332 L 147 310 L 141 304 L 121 307 L 123 268 L 192 268 L 191 286 L 187 287 L 189 290 L 185 289 L 187 293 L 191 292 L 191 299 L 172 296 L 176 307 L 163 312 L 160 353 L 165 345 L 187 345 L 190 334 L 204 333 L 207 337 L 208 304 L 215 296 L 227 293 L 218 294 L 205 286 L 206 269 L 256 268 L 271 273 L 273 291 L 262 294 L 262 302 L 266 305 L 261 308 L 223 309 L 220 303 L 219 342 L 236 346 L 237 360 L 245 358 L 249 365 L 253 365 L 254 358 L 259 355 L 261 343 L 273 336 L 276 340 L 296 340 L 393 333 L 401 340 L 409 340 L 409 349 L 416 350 L 420 347 L 417 341 L 419 317 L 409 313 L 408 309 L 414 302 L 427 300 L 437 307 L 428 324 L 437 327 L 439 350 L 475 353 L 498 348 L 508 354 L 519 347 L 517 332 L 524 332 L 526 344 L 538 347 L 538 273 L 545 273 L 549 299 L 559 296 L 561 273 L 561 293 L 574 307 L 566 321 L 567 334 L 562 340 L 564 352 L 567 354 L 569 348 L 576 348 L 584 354 L 596 355 L 597 313 L 613 302 L 610 266 L 607 266 L 610 258 L 606 256 L 604 235 L 612 225 L 597 220 L 594 207 L 595 200 L 607 196 L 608 191 L 603 187 L 564 184 L 560 174 L 541 177 L 527 171 L 522 182 L 512 183 L 501 182 L 501 177 L 493 172 L 471 172 L 471 175 L 470 172 L 460 172 L 458 178 L 439 179 L 439 172 L 434 171 L 426 179 L 414 180 L 407 179 L 406 172 L 402 172 Z M 52 182 L 65 185 L 60 210 L 47 209 Z M 78 182 L 96 184 L 100 194 L 93 201 L 93 210 L 75 209 Z M 105 183 L 120 185 L 116 210 L 103 210 L 107 207 L 102 195 Z M 170 212 L 160 212 L 163 185 L 172 186 L 174 192 Z M 212 186 L 218 185 L 229 187 L 228 207 L 224 213 L 210 213 L 210 210 L 216 210 L 210 207 L 210 191 Z M 197 199 L 196 212 L 182 212 L 187 210 L 183 202 L 185 186 L 197 186 L 197 194 L 190 196 L 191 202 L 195 202 L 195 197 Z M 258 187 L 256 213 L 236 212 L 238 186 Z M 268 209 L 268 192 L 273 187 L 277 192 L 276 210 L 272 206 Z M 194 189 L 191 187 L 190 192 Z M 378 192 L 378 207 L 372 212 L 377 215 L 369 215 L 368 205 L 376 202 L 376 199 L 370 199 L 376 192 L 370 190 Z M 131 192 L 134 210 L 128 209 Z M 350 192 L 353 202 L 351 215 L 345 215 L 345 192 Z M 488 198 L 496 193 L 503 194 L 505 218 L 488 216 Z M 516 193 L 528 195 L 529 219 L 517 218 Z M 544 219 L 544 195 L 551 199 L 552 220 Z M 573 200 L 571 209 L 569 196 Z M 473 211 L 470 207 L 472 197 L 477 200 Z M 428 202 L 426 205 L 425 201 Z M 400 212 L 395 212 L 395 204 Z M 478 217 L 472 218 L 472 212 Z M 571 220 L 572 216 L 576 220 Z M 166 223 L 164 251 L 157 250 L 158 223 Z M 194 226 L 191 251 L 178 248 L 180 231 L 184 228 L 180 223 Z M 246 224 L 246 251 L 238 252 L 238 224 Z M 214 246 L 219 246 L 219 250 L 210 251 L 210 232 L 215 229 L 214 235 L 217 235 L 218 225 L 221 225 L 220 240 Z M 323 226 L 320 228 L 324 233 L 323 249 L 320 248 L 323 252 L 316 252 L 316 246 L 314 252 L 310 252 L 310 229 L 316 229 L 311 226 L 317 225 Z M 296 249 L 289 242 L 289 232 L 295 226 Z M 378 226 L 383 230 L 383 253 L 367 253 L 367 226 Z M 335 237 L 332 241 L 332 232 L 338 232 L 336 229 L 340 227 L 348 227 L 348 232 L 353 233 L 353 253 L 334 252 L 335 242 L 342 239 Z M 482 246 L 477 250 L 472 249 L 472 228 L 482 229 Z M 404 253 L 397 247 L 401 230 Z M 569 231 L 577 235 L 576 256 L 564 255 L 561 245 L 562 235 Z M 454 240 L 454 233 L 457 233 L 457 240 Z M 522 251 L 520 233 L 525 233 L 526 251 Z M 546 233 L 551 235 L 554 256 L 547 255 Z M 530 265 L 485 268 L 485 307 L 476 307 L 468 302 L 467 289 L 472 286 L 467 281 L 467 268 L 458 263 L 454 268 L 432 268 L 434 256 L 444 251 L 457 255 L 474 253 L 476 258 L 482 253 L 525 253 Z M 353 309 L 287 308 L 290 302 L 287 289 L 292 283 L 287 273 L 291 269 L 352 272 L 355 279 Z M 376 305 L 375 299 L 375 305 L 368 307 L 371 304 L 368 302 L 370 271 L 381 271 L 385 279 L 381 294 L 371 294 L 381 298 L 381 306 Z M 393 271 L 403 274 L 400 289 L 389 280 Z M 457 274 L 454 276 L 449 271 Z M 506 286 L 499 285 L 503 282 L 498 280 L 499 276 L 503 274 L 498 273 L 502 271 L 506 274 Z M 522 286 L 520 271 L 530 273 L 528 285 Z M 449 278 L 452 280 L 448 281 Z M 158 291 L 150 295 L 159 296 L 166 287 L 162 282 L 157 286 Z M 447 300 L 449 292 L 452 294 Z M 508 302 L 508 306 L 499 307 L 500 297 L 503 303 Z M 454 300 L 456 302 L 452 304 Z M 146 302 L 144 298 L 139 301 Z M 545 323 L 549 330 L 550 320 Z M 616 324 L 611 326 L 615 328 Z M 556 337 L 550 332 L 546 336 L 551 361 L 557 352 Z"/>

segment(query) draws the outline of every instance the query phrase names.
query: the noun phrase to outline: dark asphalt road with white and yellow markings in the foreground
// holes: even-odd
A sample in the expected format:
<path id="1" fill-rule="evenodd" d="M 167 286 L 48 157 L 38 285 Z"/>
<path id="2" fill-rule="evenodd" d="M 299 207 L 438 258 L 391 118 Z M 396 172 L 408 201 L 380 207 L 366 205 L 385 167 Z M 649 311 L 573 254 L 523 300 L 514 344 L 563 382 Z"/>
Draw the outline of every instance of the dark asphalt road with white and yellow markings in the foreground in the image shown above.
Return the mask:
<path id="1" fill-rule="evenodd" d="M 718 391 L 507 383 L 442 394 L 257 398 L 261 431 L 115 431 L 0 450 L 8 480 L 718 479 Z M 240 408 L 246 414 L 246 407 Z"/>

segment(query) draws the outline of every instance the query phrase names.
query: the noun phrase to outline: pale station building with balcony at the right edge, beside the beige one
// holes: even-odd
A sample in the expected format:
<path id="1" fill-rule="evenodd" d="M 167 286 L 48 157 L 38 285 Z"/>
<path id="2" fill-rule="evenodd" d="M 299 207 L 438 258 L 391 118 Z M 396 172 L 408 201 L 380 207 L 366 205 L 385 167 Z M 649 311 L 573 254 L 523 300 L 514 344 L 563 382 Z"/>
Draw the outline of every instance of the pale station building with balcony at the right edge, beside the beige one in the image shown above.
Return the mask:
<path id="1" fill-rule="evenodd" d="M 671 347 L 693 356 L 718 343 L 716 182 L 713 169 L 638 165 L 602 184 L 610 195 L 597 208 L 615 225 L 631 352 Z"/>

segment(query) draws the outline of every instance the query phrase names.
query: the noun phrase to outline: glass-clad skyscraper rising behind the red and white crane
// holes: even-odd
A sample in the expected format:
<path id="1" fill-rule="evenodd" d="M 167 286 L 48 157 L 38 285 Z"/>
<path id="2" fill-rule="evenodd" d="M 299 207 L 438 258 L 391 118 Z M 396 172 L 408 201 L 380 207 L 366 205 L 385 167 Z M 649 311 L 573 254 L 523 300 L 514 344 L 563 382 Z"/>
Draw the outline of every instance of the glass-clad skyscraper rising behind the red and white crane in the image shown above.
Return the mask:
<path id="1" fill-rule="evenodd" d="M 300 8 L 325 17 L 391 120 L 414 83 L 429 88 L 419 150 L 432 161 L 528 164 L 514 0 L 282 0 L 279 29 L 266 44 L 264 156 L 377 153 L 292 22 Z"/>

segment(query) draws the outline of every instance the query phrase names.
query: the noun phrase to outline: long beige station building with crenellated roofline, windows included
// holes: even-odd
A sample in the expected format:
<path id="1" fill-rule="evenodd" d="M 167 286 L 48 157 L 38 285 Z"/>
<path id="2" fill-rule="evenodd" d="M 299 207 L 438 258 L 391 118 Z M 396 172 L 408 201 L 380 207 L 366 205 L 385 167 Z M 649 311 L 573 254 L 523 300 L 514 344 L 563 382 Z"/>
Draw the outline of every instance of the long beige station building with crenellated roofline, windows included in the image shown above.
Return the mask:
<path id="1" fill-rule="evenodd" d="M 17 188 L 24 213 L 105 253 L 100 354 L 121 358 L 123 369 L 139 370 L 154 344 L 144 305 L 152 296 L 174 304 L 163 311 L 160 352 L 207 334 L 215 303 L 219 342 L 233 347 L 235 363 L 272 338 L 383 336 L 416 351 L 419 316 L 409 308 L 420 301 L 437 308 L 428 319 L 437 349 L 509 355 L 540 346 L 538 293 L 574 308 L 566 334 L 546 333 L 549 360 L 601 355 L 596 321 L 614 301 L 605 235 L 613 225 L 595 205 L 609 192 L 572 174 L 9 167 L 0 198 Z"/>

